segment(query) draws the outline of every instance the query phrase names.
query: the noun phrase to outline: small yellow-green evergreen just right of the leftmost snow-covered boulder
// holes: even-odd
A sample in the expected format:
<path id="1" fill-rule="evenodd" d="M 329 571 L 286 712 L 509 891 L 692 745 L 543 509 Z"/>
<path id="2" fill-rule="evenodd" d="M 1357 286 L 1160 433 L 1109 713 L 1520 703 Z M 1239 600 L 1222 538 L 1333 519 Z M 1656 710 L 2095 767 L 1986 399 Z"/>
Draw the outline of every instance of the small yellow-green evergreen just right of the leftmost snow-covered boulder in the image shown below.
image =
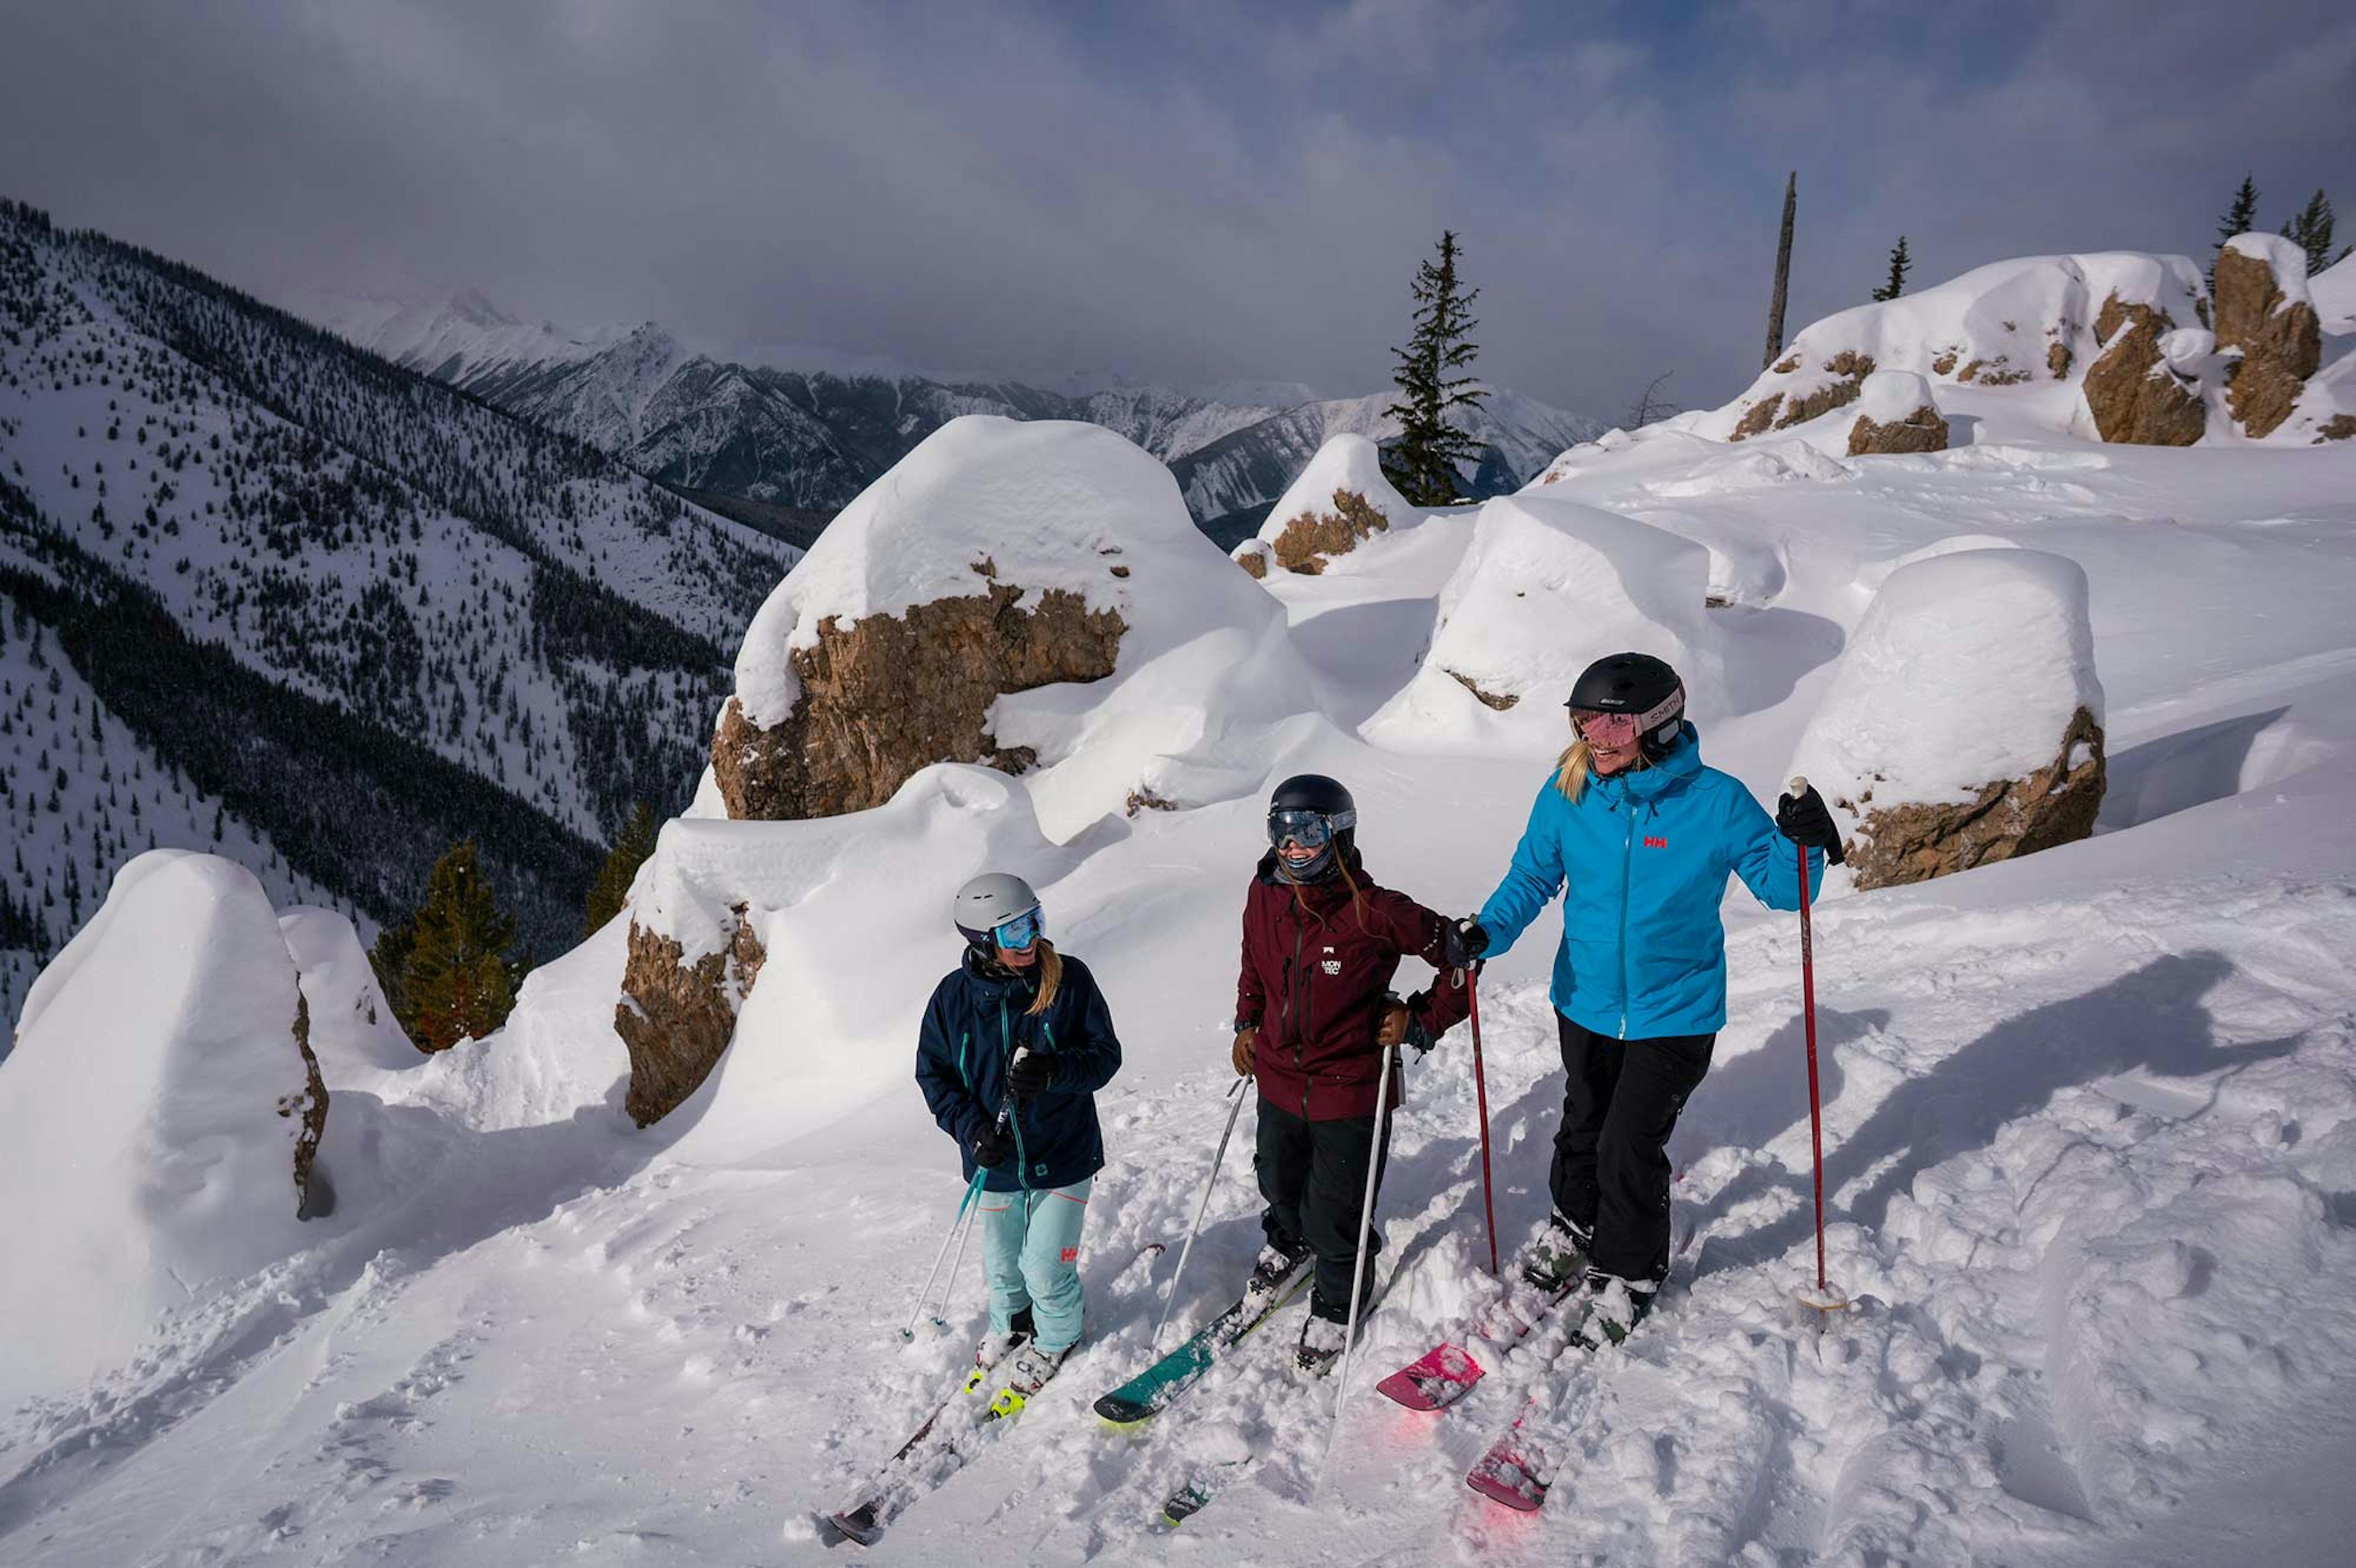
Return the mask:
<path id="1" fill-rule="evenodd" d="M 474 841 L 452 845 L 434 862 L 417 916 L 398 937 L 386 930 L 377 939 L 379 949 L 405 949 L 386 1001 L 419 1050 L 450 1050 L 507 1022 L 518 979 L 514 942 L 516 921 L 483 881 Z"/>

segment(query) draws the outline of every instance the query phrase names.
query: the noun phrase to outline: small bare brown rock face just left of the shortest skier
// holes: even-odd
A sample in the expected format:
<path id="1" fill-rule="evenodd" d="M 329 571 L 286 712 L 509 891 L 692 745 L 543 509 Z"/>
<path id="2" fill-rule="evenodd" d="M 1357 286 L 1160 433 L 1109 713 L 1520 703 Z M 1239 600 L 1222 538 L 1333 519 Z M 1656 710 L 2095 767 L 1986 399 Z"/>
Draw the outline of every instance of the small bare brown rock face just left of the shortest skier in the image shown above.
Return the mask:
<path id="1" fill-rule="evenodd" d="M 629 965 L 613 1026 L 629 1048 L 622 1109 L 641 1128 L 669 1116 L 712 1076 L 768 954 L 744 918 L 744 904 L 737 904 L 728 946 L 693 965 L 683 958 L 676 937 L 629 923 Z"/>

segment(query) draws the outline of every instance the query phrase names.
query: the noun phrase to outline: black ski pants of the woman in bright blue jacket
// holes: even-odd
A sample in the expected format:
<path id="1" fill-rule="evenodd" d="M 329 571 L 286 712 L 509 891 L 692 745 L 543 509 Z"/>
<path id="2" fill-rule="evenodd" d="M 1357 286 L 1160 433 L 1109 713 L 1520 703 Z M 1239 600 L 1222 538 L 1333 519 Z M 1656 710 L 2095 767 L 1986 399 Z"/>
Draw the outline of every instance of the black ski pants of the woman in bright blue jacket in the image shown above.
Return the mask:
<path id="1" fill-rule="evenodd" d="M 1588 1262 L 1621 1278 L 1668 1274 L 1668 1135 L 1710 1071 L 1715 1034 L 1614 1041 L 1555 1015 L 1562 1128 L 1555 1210 L 1595 1234 Z"/>

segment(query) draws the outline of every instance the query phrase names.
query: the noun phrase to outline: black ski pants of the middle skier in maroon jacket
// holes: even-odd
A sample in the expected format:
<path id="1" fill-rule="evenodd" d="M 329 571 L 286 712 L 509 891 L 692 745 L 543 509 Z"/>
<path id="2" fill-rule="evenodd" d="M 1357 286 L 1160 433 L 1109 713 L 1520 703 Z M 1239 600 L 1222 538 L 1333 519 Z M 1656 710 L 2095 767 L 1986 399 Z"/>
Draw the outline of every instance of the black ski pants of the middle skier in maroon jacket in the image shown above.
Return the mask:
<path id="1" fill-rule="evenodd" d="M 1303 1243 L 1317 1255 L 1317 1283 L 1310 1288 L 1310 1311 L 1343 1323 L 1350 1318 L 1350 1278 L 1357 1255 L 1357 1220 L 1366 1205 L 1366 1161 L 1376 1156 L 1374 1116 L 1305 1121 L 1260 1097 L 1260 1125 L 1251 1151 L 1251 1170 L 1260 1177 L 1260 1229 L 1268 1245 L 1298 1253 Z M 1390 1161 L 1390 1118 L 1381 1118 L 1383 1151 Z M 1374 1170 L 1383 1189 L 1381 1163 Z M 1374 1255 L 1383 1234 L 1366 1238 L 1366 1293 L 1374 1300 Z M 1359 1309 L 1364 1311 L 1364 1307 Z"/>

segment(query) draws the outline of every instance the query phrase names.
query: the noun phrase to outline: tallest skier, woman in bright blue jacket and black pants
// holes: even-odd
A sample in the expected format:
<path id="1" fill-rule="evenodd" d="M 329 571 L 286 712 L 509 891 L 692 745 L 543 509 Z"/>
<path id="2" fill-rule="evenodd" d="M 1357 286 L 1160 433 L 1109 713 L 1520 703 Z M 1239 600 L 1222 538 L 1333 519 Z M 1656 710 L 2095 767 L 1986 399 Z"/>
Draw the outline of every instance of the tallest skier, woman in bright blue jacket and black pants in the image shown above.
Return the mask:
<path id="1" fill-rule="evenodd" d="M 1619 1342 L 1668 1274 L 1668 1135 L 1727 1022 L 1727 876 L 1769 909 L 1798 909 L 1791 845 L 1807 845 L 1814 883 L 1840 836 L 1814 789 L 1783 796 L 1769 822 L 1734 777 L 1703 768 L 1685 685 L 1661 659 L 1597 659 L 1564 706 L 1571 744 L 1465 946 L 1505 951 L 1564 895 L 1555 1212 L 1522 1276 L 1564 1290 L 1586 1269 L 1590 1335 Z"/>

